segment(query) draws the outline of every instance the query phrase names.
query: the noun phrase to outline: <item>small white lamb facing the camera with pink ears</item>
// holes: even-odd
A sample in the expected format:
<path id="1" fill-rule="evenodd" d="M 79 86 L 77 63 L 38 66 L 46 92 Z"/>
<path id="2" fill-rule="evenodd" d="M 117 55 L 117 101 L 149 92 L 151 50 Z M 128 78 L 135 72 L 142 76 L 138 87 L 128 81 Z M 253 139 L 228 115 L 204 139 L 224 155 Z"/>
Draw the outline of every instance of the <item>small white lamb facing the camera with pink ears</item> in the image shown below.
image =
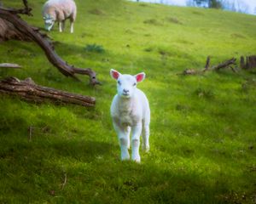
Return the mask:
<path id="1" fill-rule="evenodd" d="M 111 116 L 113 127 L 118 134 L 121 149 L 121 160 L 129 160 L 130 132 L 131 159 L 140 162 L 140 135 L 143 133 L 143 150 L 149 150 L 150 109 L 146 95 L 137 88 L 137 82 L 142 82 L 145 73 L 136 76 L 122 75 L 111 70 L 111 77 L 117 81 L 118 93 L 113 97 Z"/>

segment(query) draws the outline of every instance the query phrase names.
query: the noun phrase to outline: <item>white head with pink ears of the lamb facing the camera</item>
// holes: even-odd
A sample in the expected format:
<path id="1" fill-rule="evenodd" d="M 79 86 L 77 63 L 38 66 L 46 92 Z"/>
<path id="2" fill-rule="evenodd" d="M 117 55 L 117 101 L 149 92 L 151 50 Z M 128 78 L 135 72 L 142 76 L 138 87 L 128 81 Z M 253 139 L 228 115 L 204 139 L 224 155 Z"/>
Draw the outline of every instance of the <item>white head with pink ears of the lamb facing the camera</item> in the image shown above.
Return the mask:
<path id="1" fill-rule="evenodd" d="M 118 71 L 110 70 L 110 76 L 117 81 L 117 91 L 122 98 L 131 98 L 137 88 L 137 82 L 143 82 L 145 73 L 139 73 L 135 76 L 124 74 Z"/>

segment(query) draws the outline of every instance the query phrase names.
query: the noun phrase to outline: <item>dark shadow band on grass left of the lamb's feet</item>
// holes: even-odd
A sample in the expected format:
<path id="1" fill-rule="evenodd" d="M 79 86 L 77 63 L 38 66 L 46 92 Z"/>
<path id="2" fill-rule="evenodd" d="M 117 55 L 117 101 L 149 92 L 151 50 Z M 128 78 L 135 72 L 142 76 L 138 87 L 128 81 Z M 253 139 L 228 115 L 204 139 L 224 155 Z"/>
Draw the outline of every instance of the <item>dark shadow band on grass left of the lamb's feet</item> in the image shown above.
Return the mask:
<path id="1" fill-rule="evenodd" d="M 47 155 L 51 155 L 52 158 L 60 160 L 90 162 L 98 156 L 109 156 L 112 149 L 118 148 L 108 143 L 96 141 L 60 141 L 59 139 L 56 141 L 55 139 L 54 142 L 49 142 L 49 139 L 34 139 L 38 141 L 20 143 L 20 141 L 17 141 L 18 139 L 15 139 L 15 141 L 10 141 L 11 139 L 7 138 L 2 139 L 6 140 L 6 145 L 0 153 L 0 158 L 11 155 L 14 161 L 19 160 L 20 156 L 29 156 L 32 160 L 38 158 L 44 160 L 48 157 Z"/>

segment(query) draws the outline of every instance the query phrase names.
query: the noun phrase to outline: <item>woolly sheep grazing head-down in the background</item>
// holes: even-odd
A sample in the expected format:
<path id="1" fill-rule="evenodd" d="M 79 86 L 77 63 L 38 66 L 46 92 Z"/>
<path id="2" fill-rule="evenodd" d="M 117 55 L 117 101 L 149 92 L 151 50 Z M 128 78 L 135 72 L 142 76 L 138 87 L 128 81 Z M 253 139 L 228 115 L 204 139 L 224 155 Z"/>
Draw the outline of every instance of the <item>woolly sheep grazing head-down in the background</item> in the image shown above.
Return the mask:
<path id="1" fill-rule="evenodd" d="M 63 31 L 65 20 L 70 19 L 70 32 L 73 33 L 73 22 L 76 15 L 77 7 L 73 0 L 49 0 L 44 3 L 43 18 L 47 31 L 51 30 L 55 21 L 59 23 L 60 32 Z"/>

